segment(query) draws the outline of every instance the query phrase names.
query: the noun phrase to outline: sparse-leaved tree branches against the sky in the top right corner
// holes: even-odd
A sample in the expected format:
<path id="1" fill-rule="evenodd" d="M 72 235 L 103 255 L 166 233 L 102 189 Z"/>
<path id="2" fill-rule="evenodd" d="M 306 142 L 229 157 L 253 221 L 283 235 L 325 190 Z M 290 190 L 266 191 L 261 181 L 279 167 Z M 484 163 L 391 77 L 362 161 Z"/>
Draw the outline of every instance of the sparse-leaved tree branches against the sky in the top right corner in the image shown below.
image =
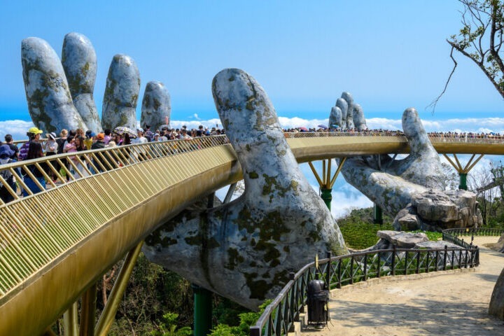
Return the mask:
<path id="1" fill-rule="evenodd" d="M 461 11 L 462 28 L 458 35 L 447 38 L 451 45 L 450 57 L 454 67 L 444 85 L 444 89 L 429 106 L 435 106 L 447 90 L 457 62 L 454 50 L 468 57 L 489 78 L 492 85 L 504 98 L 504 62 L 503 45 L 504 32 L 504 1 L 502 0 L 458 0 L 463 5 Z M 429 107 L 428 106 L 428 107 Z"/>

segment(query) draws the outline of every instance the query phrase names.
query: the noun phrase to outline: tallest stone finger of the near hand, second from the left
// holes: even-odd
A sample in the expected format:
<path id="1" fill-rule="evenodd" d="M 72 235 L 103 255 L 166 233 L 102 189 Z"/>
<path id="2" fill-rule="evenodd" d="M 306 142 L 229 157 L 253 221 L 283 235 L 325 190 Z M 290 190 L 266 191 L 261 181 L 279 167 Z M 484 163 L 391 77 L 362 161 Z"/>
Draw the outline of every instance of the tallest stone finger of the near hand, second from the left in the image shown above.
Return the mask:
<path id="1" fill-rule="evenodd" d="M 93 98 L 97 57 L 91 41 L 83 34 L 66 34 L 63 41 L 62 64 L 73 106 L 76 107 L 88 130 L 102 132 L 102 123 Z"/>

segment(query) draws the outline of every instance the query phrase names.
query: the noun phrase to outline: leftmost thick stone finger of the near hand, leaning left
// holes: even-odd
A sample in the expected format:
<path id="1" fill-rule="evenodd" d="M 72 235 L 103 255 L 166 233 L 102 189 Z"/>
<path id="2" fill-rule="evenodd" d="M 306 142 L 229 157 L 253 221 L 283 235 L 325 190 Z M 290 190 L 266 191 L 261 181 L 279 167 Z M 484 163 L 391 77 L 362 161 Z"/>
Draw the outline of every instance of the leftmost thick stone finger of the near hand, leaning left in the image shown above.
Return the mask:
<path id="1" fill-rule="evenodd" d="M 73 106 L 55 50 L 41 38 L 25 38 L 21 43 L 21 62 L 28 111 L 36 127 L 57 134 L 63 128 L 87 130 Z"/>

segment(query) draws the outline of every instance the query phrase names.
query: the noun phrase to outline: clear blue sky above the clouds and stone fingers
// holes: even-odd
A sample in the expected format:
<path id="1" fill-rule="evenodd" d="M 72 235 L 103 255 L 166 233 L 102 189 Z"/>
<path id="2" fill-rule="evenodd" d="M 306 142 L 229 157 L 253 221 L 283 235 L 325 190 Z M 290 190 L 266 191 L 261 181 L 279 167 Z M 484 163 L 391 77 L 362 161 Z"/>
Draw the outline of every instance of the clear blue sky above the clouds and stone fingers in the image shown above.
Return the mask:
<path id="1" fill-rule="evenodd" d="M 399 119 L 409 106 L 424 119 L 500 117 L 503 100 L 461 56 L 435 115 L 424 109 L 451 70 L 445 38 L 458 31 L 460 9 L 455 0 L 3 0 L 0 120 L 29 120 L 22 38 L 44 38 L 60 54 L 71 31 L 85 34 L 97 51 L 99 111 L 111 59 L 125 53 L 139 66 L 140 97 L 150 80 L 168 87 L 172 120 L 217 118 L 211 80 L 226 67 L 254 76 L 288 118 L 328 118 L 342 91 L 367 118 Z"/>

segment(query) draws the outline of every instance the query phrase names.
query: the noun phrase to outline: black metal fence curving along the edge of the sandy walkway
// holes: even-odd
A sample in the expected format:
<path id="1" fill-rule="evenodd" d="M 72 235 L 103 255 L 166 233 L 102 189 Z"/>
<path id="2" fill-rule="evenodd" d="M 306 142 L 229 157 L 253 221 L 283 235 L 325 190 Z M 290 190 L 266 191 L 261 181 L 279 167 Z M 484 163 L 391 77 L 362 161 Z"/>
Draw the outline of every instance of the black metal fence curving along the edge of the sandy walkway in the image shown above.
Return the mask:
<path id="1" fill-rule="evenodd" d="M 459 239 L 457 235 L 497 236 L 504 230 L 498 229 L 450 229 L 443 231 L 443 240 L 460 248 L 406 249 L 367 251 L 339 255 L 305 265 L 299 272 L 291 273 L 291 280 L 269 304 L 255 325 L 250 328 L 251 336 L 281 336 L 293 331 L 294 322 L 299 320 L 307 302 L 306 288 L 312 279 L 323 279 L 330 289 L 342 288 L 367 279 L 381 276 L 398 276 L 477 267 L 479 248 Z"/>

